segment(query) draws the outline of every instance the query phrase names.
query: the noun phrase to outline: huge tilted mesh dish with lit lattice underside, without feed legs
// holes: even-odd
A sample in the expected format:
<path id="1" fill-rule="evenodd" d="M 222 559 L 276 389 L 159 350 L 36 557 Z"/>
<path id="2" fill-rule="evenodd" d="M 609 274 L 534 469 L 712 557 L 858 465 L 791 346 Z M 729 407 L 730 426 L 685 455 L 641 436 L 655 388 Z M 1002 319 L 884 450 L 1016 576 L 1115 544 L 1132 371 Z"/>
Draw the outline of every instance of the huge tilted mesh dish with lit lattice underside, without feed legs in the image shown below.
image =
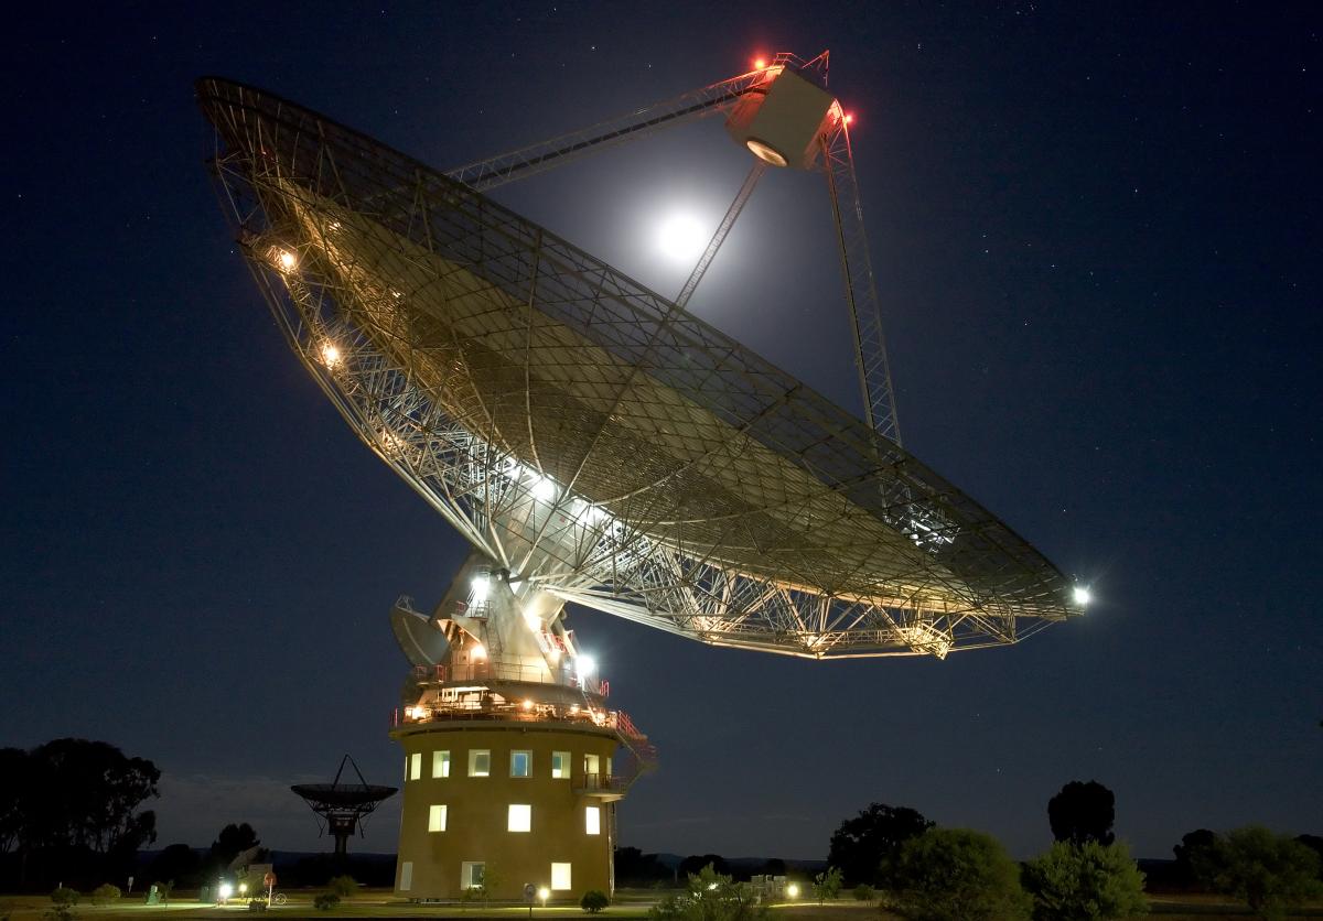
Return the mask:
<path id="1" fill-rule="evenodd" d="M 316 112 L 197 92 L 290 345 L 509 579 L 811 658 L 945 657 L 1080 613 L 974 499 L 667 297 Z"/>

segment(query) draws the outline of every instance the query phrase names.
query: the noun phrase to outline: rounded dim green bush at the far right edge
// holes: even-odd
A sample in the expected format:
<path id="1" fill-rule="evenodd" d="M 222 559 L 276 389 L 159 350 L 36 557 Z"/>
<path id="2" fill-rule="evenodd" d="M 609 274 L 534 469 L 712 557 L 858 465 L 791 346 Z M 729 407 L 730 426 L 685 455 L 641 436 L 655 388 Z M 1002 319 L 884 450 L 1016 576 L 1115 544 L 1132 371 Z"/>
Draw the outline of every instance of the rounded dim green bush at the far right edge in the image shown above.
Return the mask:
<path id="1" fill-rule="evenodd" d="M 1229 831 L 1221 843 L 1221 892 L 1241 899 L 1261 918 L 1279 918 L 1318 896 L 1319 858 L 1307 846 L 1262 826 Z"/>

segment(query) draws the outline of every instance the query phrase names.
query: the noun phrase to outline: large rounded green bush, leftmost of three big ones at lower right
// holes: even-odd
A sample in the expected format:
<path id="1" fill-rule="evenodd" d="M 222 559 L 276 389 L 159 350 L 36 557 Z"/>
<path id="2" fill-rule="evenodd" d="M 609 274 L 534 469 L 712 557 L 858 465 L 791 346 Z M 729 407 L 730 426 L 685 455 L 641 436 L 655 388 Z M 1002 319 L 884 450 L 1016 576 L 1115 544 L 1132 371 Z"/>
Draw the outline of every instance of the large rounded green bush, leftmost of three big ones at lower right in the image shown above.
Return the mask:
<path id="1" fill-rule="evenodd" d="M 1027 921 L 1020 868 L 995 838 L 929 829 L 906 840 L 892 872 L 890 908 L 913 921 Z"/>

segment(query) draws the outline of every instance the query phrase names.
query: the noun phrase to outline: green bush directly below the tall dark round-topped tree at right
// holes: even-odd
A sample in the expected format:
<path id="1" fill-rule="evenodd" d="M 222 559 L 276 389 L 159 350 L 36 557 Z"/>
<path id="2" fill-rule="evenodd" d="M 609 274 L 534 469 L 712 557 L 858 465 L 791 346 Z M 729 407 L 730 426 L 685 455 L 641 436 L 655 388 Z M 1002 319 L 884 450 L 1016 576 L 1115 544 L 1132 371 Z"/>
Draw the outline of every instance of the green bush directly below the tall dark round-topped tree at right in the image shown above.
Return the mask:
<path id="1" fill-rule="evenodd" d="M 1024 867 L 1035 921 L 1105 921 L 1148 913 L 1144 875 L 1122 844 L 1057 842 Z"/>

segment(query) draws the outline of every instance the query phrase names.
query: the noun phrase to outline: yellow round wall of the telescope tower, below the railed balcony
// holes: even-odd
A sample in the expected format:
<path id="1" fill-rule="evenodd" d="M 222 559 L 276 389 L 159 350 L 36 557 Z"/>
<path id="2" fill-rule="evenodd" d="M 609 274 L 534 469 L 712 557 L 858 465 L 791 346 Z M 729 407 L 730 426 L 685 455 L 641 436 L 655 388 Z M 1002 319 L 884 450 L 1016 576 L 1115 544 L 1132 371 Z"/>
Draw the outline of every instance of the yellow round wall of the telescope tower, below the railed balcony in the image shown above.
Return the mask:
<path id="1" fill-rule="evenodd" d="M 591 777 L 610 774 L 613 733 L 562 723 L 425 723 L 392 732 L 405 751 L 396 895 L 454 900 L 474 881 L 466 864 L 492 872 L 490 897 L 523 900 L 524 885 L 552 889 L 549 901 L 577 903 L 589 889 L 613 889 L 614 803 L 595 795 Z M 434 753 L 448 752 L 448 777 L 434 777 Z M 488 774 L 471 776 L 474 752 L 488 753 Z M 528 776 L 512 776 L 513 752 L 529 756 Z M 553 777 L 553 753 L 568 752 L 566 777 Z M 417 756 L 418 776 L 413 776 Z M 478 765 L 480 766 L 480 765 Z M 511 806 L 528 806 L 528 831 L 511 831 Z M 445 807 L 445 829 L 434 806 Z M 597 834 L 589 834 L 595 807 Z M 517 817 L 516 817 L 517 819 Z M 553 864 L 569 864 L 553 879 Z"/>

